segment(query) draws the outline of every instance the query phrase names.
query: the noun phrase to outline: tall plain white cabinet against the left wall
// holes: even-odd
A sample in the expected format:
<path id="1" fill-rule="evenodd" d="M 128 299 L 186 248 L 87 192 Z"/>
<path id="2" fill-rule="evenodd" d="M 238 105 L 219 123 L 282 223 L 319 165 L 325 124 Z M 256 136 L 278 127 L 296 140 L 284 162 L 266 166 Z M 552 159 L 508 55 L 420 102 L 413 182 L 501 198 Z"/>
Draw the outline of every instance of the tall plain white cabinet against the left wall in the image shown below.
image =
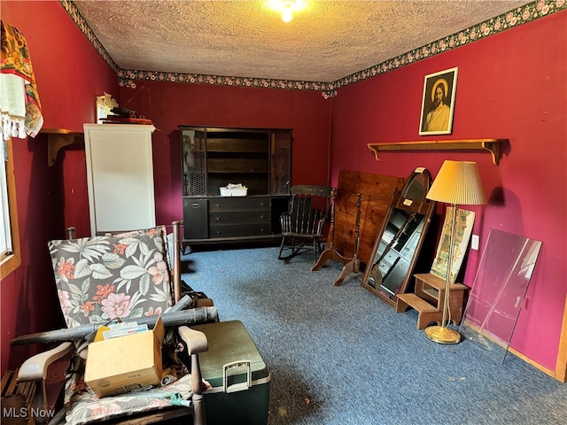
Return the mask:
<path id="1" fill-rule="evenodd" d="M 84 124 L 90 231 L 155 226 L 151 125 Z"/>

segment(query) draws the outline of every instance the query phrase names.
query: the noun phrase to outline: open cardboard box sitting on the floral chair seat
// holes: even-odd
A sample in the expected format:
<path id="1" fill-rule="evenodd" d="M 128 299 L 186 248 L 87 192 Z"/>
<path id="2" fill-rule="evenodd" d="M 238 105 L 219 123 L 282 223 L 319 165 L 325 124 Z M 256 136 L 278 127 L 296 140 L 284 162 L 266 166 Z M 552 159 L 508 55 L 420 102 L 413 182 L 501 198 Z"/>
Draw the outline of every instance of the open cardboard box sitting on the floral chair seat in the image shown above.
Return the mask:
<path id="1" fill-rule="evenodd" d="M 89 344 L 85 383 L 98 398 L 161 381 L 163 322 L 151 330 Z"/>

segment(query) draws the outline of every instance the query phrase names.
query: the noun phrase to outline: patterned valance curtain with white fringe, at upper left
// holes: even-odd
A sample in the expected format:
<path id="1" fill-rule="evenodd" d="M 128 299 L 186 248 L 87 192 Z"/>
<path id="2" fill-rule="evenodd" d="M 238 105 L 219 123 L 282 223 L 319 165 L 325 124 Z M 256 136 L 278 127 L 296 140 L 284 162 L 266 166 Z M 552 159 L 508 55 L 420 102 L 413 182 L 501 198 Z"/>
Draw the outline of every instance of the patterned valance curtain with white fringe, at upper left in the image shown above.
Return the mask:
<path id="1" fill-rule="evenodd" d="M 35 137 L 43 126 L 43 116 L 26 38 L 18 28 L 0 22 L 0 134 L 3 140 Z"/>

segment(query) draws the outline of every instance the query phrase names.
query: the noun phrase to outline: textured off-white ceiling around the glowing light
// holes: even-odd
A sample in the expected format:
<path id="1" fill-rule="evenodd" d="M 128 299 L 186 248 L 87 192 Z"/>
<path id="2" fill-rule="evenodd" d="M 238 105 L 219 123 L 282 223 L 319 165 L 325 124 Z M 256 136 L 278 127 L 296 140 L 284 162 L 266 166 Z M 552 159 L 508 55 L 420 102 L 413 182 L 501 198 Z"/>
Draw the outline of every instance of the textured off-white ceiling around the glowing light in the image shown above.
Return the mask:
<path id="1" fill-rule="evenodd" d="M 304 1 L 288 24 L 266 0 L 74 4 L 122 69 L 330 82 L 530 3 Z"/>

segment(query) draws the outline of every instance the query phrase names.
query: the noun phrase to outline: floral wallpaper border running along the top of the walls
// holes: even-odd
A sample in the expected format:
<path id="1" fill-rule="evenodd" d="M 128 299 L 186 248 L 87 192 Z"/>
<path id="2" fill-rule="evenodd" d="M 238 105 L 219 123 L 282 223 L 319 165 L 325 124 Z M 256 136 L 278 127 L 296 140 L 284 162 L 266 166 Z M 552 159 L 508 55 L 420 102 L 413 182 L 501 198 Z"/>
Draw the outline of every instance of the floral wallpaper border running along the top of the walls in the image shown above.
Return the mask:
<path id="1" fill-rule="evenodd" d="M 105 50 L 97 36 L 90 29 L 87 21 L 77 10 L 71 0 L 59 0 L 65 11 L 69 14 L 74 23 L 81 29 L 89 42 L 95 47 L 106 63 L 113 69 L 119 78 L 120 86 L 136 88 L 135 80 L 142 81 L 169 81 L 190 84 L 211 84 L 218 86 L 242 86 L 259 87 L 267 89 L 292 89 L 292 90 L 321 90 L 322 97 L 325 99 L 337 96 L 337 89 L 357 81 L 366 80 L 379 73 L 386 73 L 432 56 L 461 47 L 470 42 L 476 42 L 489 35 L 498 34 L 512 27 L 525 24 L 535 19 L 548 16 L 555 12 L 567 9 L 567 0 L 537 0 L 524 4 L 517 9 L 502 13 L 501 15 L 485 20 L 480 24 L 469 27 L 454 35 L 448 35 L 436 42 L 431 42 L 423 47 L 408 51 L 397 58 L 389 59 L 381 64 L 371 66 L 367 69 L 353 73 L 344 78 L 333 82 L 318 81 L 292 81 L 292 80 L 271 80 L 268 78 L 252 77 L 229 77 L 221 75 L 202 75 L 197 73 L 162 73 L 157 71 L 140 71 L 133 69 L 120 69 Z"/>

